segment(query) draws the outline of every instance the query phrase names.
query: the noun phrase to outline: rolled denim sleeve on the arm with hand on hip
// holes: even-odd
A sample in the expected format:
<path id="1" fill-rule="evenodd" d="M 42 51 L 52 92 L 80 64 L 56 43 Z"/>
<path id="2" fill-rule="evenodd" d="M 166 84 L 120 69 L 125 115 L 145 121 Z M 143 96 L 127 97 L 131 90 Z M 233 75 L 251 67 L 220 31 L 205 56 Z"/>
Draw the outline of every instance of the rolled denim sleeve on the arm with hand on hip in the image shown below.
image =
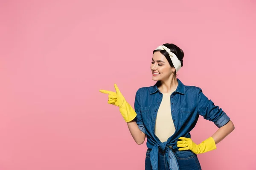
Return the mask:
<path id="1" fill-rule="evenodd" d="M 222 127 L 230 121 L 229 116 L 217 105 L 214 105 L 212 100 L 209 100 L 207 96 L 203 94 L 201 88 L 197 89 L 197 104 L 198 104 L 198 111 L 204 119 L 207 119 L 217 127 Z"/>

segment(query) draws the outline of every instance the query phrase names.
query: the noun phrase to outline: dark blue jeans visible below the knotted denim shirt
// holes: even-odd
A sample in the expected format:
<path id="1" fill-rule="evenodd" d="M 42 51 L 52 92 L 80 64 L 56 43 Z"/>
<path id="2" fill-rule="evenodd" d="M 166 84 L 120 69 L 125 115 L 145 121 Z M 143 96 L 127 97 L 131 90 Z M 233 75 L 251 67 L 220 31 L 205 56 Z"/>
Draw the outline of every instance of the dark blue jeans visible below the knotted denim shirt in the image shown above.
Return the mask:
<path id="1" fill-rule="evenodd" d="M 180 170 L 201 170 L 198 157 L 191 150 L 175 150 L 173 153 L 175 154 Z M 145 170 L 152 170 L 149 149 L 146 152 Z M 166 158 L 164 151 L 160 148 L 158 153 L 158 170 L 170 170 L 168 158 Z"/>

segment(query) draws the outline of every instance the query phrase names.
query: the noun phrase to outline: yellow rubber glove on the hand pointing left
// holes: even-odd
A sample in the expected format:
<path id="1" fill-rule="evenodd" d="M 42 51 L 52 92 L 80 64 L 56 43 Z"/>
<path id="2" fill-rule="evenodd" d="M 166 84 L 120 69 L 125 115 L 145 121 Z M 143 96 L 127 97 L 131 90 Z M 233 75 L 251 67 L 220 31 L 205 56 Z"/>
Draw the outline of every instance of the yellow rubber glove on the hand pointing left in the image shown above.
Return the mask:
<path id="1" fill-rule="evenodd" d="M 116 105 L 119 107 L 119 111 L 122 114 L 125 122 L 131 122 L 136 116 L 137 113 L 131 107 L 131 105 L 126 102 L 124 96 L 119 91 L 117 85 L 115 84 L 116 92 L 113 91 L 106 91 L 106 90 L 99 90 L 102 93 L 109 94 L 108 95 L 108 103 L 111 105 Z"/>

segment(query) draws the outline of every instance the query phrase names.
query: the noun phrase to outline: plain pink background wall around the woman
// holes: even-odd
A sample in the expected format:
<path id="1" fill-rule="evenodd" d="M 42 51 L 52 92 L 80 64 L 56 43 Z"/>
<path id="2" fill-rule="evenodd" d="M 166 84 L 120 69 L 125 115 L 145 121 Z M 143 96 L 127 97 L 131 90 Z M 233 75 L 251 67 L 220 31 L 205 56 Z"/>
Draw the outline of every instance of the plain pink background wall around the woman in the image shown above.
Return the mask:
<path id="1" fill-rule="evenodd" d="M 253 0 L 0 1 L 0 170 L 143 170 L 116 106 L 99 89 L 116 83 L 134 104 L 153 85 L 152 51 L 183 49 L 186 85 L 236 129 L 198 155 L 203 170 L 253 170 L 256 3 Z M 218 128 L 200 117 L 196 143 Z"/>

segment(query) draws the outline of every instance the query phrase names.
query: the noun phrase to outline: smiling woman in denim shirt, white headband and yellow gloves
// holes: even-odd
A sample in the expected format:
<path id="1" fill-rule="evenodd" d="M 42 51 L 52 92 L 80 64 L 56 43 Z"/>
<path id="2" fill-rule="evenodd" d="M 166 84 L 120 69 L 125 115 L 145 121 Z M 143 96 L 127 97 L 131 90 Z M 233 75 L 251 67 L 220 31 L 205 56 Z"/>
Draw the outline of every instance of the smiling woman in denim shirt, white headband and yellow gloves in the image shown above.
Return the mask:
<path id="1" fill-rule="evenodd" d="M 183 66 L 183 51 L 174 44 L 163 44 L 153 51 L 151 63 L 154 86 L 140 88 L 134 109 L 115 84 L 108 103 L 119 111 L 137 144 L 147 136 L 145 170 L 201 170 L 197 155 L 216 149 L 216 144 L 234 130 L 224 111 L 209 100 L 201 88 L 183 85 L 176 78 Z M 200 144 L 190 138 L 199 115 L 215 123 L 219 129 Z"/>

